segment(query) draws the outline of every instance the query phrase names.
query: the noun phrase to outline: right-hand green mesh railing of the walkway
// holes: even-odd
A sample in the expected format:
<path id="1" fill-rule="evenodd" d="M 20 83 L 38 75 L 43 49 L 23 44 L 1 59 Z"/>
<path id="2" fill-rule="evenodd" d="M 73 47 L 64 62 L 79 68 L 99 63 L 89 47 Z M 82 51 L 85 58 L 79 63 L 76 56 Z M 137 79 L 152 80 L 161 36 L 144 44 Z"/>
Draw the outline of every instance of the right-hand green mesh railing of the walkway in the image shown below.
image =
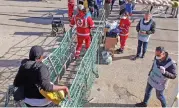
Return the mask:
<path id="1" fill-rule="evenodd" d="M 86 102 L 91 90 L 92 84 L 98 77 L 97 59 L 100 40 L 102 38 L 103 29 L 105 26 L 104 10 L 102 10 L 101 21 L 92 38 L 90 48 L 83 57 L 72 86 L 70 87 L 70 95 L 72 100 L 65 100 L 62 107 L 82 107 Z"/>

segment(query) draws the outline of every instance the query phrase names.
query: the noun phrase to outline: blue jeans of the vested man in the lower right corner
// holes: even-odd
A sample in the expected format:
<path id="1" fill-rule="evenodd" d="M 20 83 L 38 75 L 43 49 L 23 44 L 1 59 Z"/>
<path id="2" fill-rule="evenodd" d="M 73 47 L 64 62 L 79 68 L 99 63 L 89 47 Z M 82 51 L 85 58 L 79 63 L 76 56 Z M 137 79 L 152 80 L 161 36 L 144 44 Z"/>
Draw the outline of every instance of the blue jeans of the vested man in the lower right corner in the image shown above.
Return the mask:
<path id="1" fill-rule="evenodd" d="M 147 104 L 149 101 L 152 89 L 153 89 L 153 87 L 149 83 L 147 83 L 147 87 L 145 90 L 145 96 L 144 96 L 144 100 L 143 100 L 143 102 L 145 104 Z M 164 90 L 156 90 L 157 98 L 160 100 L 162 107 L 167 107 L 166 99 L 165 99 L 165 96 L 163 95 L 163 93 L 164 93 Z"/>

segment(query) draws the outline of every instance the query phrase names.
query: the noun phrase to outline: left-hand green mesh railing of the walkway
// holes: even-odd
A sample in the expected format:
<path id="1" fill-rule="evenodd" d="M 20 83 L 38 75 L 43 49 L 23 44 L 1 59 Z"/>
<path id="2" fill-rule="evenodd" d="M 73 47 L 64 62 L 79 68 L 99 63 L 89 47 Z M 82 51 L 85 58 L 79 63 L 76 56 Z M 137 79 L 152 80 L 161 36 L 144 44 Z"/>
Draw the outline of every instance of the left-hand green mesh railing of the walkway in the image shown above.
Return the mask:
<path id="1" fill-rule="evenodd" d="M 67 62 L 70 61 L 75 52 L 75 32 L 75 29 L 66 32 L 60 46 L 43 61 L 50 71 L 50 78 L 53 83 L 58 81 L 60 75 L 63 74 L 62 72 L 65 72 Z"/>

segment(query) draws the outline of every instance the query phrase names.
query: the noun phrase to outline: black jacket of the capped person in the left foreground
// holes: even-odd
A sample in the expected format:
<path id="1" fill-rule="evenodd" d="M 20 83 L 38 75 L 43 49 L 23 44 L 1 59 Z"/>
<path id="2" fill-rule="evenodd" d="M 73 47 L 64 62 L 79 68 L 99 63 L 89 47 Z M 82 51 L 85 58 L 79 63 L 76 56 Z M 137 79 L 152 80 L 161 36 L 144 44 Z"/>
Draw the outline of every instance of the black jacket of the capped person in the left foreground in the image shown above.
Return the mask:
<path id="1" fill-rule="evenodd" d="M 35 62 L 28 59 L 21 62 L 13 84 L 15 87 L 24 87 L 24 96 L 26 98 L 44 98 L 36 85 L 41 86 L 45 91 L 53 90 L 47 67 L 42 62 Z"/>

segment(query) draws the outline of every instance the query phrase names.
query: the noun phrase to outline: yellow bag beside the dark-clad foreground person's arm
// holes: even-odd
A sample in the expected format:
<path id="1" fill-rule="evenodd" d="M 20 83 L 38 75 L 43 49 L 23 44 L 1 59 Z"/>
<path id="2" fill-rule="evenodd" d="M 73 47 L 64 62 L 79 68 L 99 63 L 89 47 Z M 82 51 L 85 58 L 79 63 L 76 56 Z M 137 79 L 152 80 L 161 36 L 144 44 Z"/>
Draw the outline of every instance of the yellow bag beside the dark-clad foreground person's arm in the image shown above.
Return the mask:
<path id="1" fill-rule="evenodd" d="M 65 92 L 63 90 L 58 92 L 46 92 L 43 89 L 40 89 L 40 93 L 48 100 L 52 101 L 55 104 L 61 104 L 65 99 Z"/>

